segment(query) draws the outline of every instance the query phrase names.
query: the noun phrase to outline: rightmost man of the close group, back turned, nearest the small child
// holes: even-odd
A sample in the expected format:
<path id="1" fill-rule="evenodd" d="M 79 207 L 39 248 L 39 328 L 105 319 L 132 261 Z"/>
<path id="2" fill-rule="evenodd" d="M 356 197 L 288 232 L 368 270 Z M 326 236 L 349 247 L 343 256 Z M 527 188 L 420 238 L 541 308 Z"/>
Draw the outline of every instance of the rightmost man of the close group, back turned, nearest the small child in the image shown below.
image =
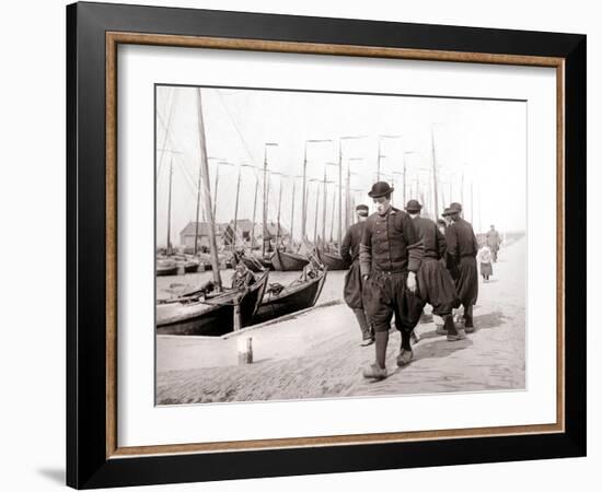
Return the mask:
<path id="1" fill-rule="evenodd" d="M 478 296 L 478 271 L 476 269 L 476 254 L 478 243 L 473 226 L 460 216 L 462 206 L 452 203 L 449 216 L 451 225 L 448 227 L 445 241 L 448 253 L 456 268 L 455 292 L 464 306 L 464 328 L 467 333 L 474 331 L 473 306 Z"/>

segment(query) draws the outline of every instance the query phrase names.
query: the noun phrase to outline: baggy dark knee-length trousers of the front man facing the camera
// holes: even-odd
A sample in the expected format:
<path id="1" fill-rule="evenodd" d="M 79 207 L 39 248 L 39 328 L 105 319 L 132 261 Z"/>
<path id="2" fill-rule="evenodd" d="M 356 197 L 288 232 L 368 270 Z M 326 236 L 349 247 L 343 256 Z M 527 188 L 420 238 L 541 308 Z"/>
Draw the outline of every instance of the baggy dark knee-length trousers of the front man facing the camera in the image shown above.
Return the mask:
<path id="1" fill-rule="evenodd" d="M 375 332 L 389 331 L 395 315 L 395 327 L 402 335 L 409 332 L 420 320 L 422 302 L 406 285 L 407 272 L 374 271 L 363 288 L 363 308 Z"/>

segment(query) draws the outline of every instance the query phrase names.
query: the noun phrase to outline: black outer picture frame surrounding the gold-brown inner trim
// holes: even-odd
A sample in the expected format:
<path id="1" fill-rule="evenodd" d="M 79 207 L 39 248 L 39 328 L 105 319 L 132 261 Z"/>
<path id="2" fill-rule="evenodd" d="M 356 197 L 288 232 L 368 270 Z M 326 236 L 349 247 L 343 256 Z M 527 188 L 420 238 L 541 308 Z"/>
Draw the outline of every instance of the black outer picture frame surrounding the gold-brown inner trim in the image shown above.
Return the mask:
<path id="1" fill-rule="evenodd" d="M 564 58 L 566 432 L 107 459 L 108 31 Z M 577 34 L 121 4 L 68 5 L 67 483 L 89 489 L 584 456 L 586 43 L 586 36 Z"/>

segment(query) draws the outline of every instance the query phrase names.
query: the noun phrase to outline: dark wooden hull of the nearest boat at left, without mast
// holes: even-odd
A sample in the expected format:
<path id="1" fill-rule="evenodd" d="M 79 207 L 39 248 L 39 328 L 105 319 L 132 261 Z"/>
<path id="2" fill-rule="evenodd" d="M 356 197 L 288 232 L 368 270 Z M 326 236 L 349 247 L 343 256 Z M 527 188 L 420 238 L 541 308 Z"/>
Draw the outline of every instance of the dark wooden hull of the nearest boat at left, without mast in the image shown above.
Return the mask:
<path id="1" fill-rule="evenodd" d="M 241 327 L 251 325 L 264 297 L 268 272 L 256 276 L 256 282 L 240 300 Z M 182 296 L 157 305 L 158 335 L 221 336 L 234 330 L 234 297 L 225 291 L 206 297 Z"/>

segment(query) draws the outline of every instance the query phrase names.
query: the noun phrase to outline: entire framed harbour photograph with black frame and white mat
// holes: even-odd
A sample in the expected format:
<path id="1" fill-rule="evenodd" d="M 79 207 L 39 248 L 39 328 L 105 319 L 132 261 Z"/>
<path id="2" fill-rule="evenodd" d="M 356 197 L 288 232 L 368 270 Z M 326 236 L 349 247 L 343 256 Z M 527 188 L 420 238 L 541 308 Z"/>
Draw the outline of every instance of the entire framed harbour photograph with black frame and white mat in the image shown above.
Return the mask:
<path id="1" fill-rule="evenodd" d="M 67 8 L 67 482 L 586 454 L 586 36 Z"/>

